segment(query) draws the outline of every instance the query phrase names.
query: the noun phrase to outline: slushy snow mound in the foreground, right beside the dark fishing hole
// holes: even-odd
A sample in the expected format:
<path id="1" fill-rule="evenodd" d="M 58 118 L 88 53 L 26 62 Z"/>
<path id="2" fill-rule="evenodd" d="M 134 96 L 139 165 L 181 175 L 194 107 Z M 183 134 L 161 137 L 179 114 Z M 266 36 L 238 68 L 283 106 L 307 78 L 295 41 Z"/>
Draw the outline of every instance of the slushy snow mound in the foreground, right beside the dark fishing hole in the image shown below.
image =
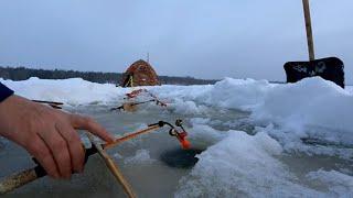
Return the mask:
<path id="1" fill-rule="evenodd" d="M 208 147 L 192 173 L 181 179 L 175 197 L 317 197 L 299 185 L 276 155 L 282 148 L 266 133 L 229 131 Z"/>

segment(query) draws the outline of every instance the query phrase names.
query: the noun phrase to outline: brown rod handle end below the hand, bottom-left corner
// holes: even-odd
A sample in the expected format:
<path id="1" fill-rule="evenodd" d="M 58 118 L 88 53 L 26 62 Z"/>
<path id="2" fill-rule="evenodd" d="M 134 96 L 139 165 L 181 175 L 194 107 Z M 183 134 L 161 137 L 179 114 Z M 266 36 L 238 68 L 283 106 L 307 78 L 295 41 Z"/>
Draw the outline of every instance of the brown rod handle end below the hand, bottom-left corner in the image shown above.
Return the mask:
<path id="1" fill-rule="evenodd" d="M 3 178 L 0 182 L 0 195 L 10 193 L 15 188 L 24 186 L 38 178 L 45 176 L 46 173 L 41 166 L 30 168 Z"/>

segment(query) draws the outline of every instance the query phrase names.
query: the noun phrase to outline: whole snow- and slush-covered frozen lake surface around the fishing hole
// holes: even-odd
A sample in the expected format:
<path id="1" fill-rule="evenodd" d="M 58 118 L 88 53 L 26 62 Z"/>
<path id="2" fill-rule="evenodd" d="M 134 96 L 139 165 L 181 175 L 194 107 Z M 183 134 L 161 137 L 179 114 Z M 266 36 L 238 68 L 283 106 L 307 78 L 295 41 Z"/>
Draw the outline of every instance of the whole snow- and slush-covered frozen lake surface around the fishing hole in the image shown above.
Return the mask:
<path id="1" fill-rule="evenodd" d="M 178 157 L 181 150 L 167 128 L 109 150 L 138 197 L 353 196 L 350 88 L 341 90 L 321 79 L 296 85 L 225 79 L 214 86 L 161 86 L 150 91 L 169 102 L 167 109 L 143 105 L 129 113 L 109 109 L 130 90 L 81 81 L 81 89 L 90 92 L 78 96 L 72 91 L 75 80 L 71 82 L 63 88 L 50 81 L 56 95 L 47 94 L 49 82 L 39 79 L 32 79 L 38 92 L 22 91 L 24 84 L 8 85 L 29 98 L 65 101 L 67 111 L 94 117 L 115 135 L 183 119 L 193 148 L 203 151 L 194 167 L 170 166 L 165 157 Z M 73 95 L 66 95 L 67 89 Z M 33 166 L 25 151 L 0 140 L 0 177 Z M 45 177 L 3 197 L 31 196 L 124 197 L 124 193 L 95 155 L 84 174 L 69 182 Z"/>

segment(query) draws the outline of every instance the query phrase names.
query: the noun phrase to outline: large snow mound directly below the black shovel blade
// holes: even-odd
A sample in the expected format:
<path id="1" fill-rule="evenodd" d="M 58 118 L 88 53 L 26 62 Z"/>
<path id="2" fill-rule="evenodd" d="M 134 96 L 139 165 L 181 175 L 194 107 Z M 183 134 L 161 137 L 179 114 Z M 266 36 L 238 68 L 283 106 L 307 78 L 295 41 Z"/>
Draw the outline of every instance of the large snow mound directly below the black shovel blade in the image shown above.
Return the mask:
<path id="1" fill-rule="evenodd" d="M 331 81 L 309 78 L 270 89 L 253 117 L 291 127 L 315 124 L 352 131 L 352 99 L 350 92 Z"/>

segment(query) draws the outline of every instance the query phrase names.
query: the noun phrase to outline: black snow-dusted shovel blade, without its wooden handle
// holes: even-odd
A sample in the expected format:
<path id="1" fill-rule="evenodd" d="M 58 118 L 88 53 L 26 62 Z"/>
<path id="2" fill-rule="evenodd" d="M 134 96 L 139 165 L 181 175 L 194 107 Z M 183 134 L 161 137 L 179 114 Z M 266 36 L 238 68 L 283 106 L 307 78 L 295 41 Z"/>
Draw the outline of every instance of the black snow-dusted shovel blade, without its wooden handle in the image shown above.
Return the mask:
<path id="1" fill-rule="evenodd" d="M 344 88 L 344 64 L 340 58 L 328 57 L 311 62 L 288 62 L 285 64 L 287 82 L 320 76 Z"/>

